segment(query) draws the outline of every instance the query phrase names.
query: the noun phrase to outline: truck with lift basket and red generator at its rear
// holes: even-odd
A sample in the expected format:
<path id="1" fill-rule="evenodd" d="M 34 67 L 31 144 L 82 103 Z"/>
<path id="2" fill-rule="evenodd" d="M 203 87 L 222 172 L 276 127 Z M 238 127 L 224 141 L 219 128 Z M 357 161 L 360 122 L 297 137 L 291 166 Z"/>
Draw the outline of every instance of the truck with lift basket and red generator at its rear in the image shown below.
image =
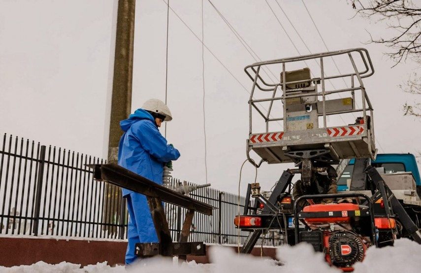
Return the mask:
<path id="1" fill-rule="evenodd" d="M 421 243 L 414 158 L 402 168 L 392 160 L 398 156 L 376 149 L 374 109 L 363 83 L 374 74 L 366 49 L 258 62 L 244 70 L 253 81 L 247 159 L 256 168 L 265 162 L 295 169 L 283 171 L 269 192 L 257 181 L 248 184 L 244 211 L 234 219 L 250 232 L 240 252 L 250 253 L 260 237 L 277 230 L 283 243 L 311 243 L 328 263 L 349 272 L 368 247 L 401 237 Z M 338 191 L 326 194 L 319 180 L 332 168 L 339 180 L 329 179 Z M 316 193 L 294 198 L 295 174 Z M 298 205 L 302 201 L 308 205 Z"/>

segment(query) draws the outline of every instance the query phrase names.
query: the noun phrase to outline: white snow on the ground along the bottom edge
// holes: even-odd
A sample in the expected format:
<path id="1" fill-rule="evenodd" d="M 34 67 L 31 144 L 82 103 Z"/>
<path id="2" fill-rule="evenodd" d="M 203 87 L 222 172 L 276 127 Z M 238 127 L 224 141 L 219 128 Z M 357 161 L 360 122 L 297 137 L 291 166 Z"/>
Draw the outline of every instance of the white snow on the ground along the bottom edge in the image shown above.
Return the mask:
<path id="1" fill-rule="evenodd" d="M 284 245 L 277 249 L 278 261 L 250 255 L 237 255 L 231 248 L 215 246 L 210 249 L 212 264 L 194 261 L 178 264 L 176 259 L 152 258 L 136 265 L 110 267 L 104 263 L 80 265 L 62 262 L 49 265 L 38 262 L 31 266 L 0 266 L 0 273 L 340 273 L 324 262 L 322 253 L 315 253 L 310 244 Z M 398 239 L 393 247 L 371 247 L 362 263 L 355 265 L 355 273 L 405 272 L 418 273 L 421 268 L 421 245 L 409 239 Z M 283 264 L 280 266 L 280 264 Z"/>

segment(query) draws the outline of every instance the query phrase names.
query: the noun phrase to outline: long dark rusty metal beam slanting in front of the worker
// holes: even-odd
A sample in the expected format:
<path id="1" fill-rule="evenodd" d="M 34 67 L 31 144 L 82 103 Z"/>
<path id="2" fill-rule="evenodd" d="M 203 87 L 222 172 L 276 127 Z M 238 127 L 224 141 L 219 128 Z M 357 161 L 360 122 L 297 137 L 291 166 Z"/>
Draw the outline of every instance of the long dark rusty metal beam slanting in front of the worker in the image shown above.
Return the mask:
<path id="1" fill-rule="evenodd" d="M 97 164 L 87 166 L 94 169 L 94 178 L 96 180 L 106 181 L 122 188 L 144 194 L 147 197 L 160 198 L 166 203 L 192 209 L 206 215 L 212 215 L 212 210 L 215 209 L 215 207 L 211 205 L 202 203 L 165 188 L 164 186 L 118 166 L 117 164 Z"/>

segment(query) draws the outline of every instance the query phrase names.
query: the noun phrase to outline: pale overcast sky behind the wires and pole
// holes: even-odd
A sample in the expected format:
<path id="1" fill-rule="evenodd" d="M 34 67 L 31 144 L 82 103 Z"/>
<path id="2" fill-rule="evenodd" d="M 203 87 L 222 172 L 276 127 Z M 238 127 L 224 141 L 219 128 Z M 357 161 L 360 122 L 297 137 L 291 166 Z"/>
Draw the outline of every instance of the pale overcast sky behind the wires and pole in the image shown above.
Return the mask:
<path id="1" fill-rule="evenodd" d="M 262 61 L 309 54 L 308 49 L 327 51 L 302 1 L 212 2 Z M 359 16 L 351 19 L 355 11 L 346 0 L 304 3 L 330 51 L 368 49 L 375 73 L 364 85 L 375 109 L 379 152 L 420 151 L 420 121 L 404 117 L 401 110 L 416 98 L 398 88 L 419 67 L 407 60 L 391 68 L 393 63 L 383 55 L 386 47 L 363 44 L 369 33 L 379 37 L 390 30 L 384 23 Z M 107 157 L 116 4 L 116 0 L 0 0 L 1 134 Z M 206 182 L 205 96 L 207 181 L 236 193 L 246 159 L 252 87 L 243 69 L 256 61 L 204 0 L 204 44 L 212 53 L 205 48 L 203 90 L 201 1 L 170 0 L 170 6 L 166 99 L 174 119 L 167 126 L 167 139 L 181 152 L 173 176 Z M 133 111 L 150 98 L 165 101 L 166 18 L 163 0 L 136 2 Z M 258 169 L 262 189 L 270 189 L 291 167 L 263 164 Z M 254 176 L 254 167 L 247 163 L 242 194 Z"/>

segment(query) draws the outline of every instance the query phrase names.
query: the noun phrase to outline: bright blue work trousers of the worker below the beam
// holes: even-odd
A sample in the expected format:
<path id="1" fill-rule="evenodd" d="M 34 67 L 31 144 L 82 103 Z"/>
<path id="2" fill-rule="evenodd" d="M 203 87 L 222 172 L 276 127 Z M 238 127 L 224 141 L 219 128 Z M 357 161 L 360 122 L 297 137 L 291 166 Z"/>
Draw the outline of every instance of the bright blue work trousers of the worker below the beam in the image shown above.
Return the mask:
<path id="1" fill-rule="evenodd" d="M 126 196 L 127 209 L 129 210 L 129 224 L 127 228 L 126 265 L 133 263 L 137 256 L 134 255 L 134 245 L 139 242 L 159 242 L 152 220 L 146 196 L 132 192 Z"/>

